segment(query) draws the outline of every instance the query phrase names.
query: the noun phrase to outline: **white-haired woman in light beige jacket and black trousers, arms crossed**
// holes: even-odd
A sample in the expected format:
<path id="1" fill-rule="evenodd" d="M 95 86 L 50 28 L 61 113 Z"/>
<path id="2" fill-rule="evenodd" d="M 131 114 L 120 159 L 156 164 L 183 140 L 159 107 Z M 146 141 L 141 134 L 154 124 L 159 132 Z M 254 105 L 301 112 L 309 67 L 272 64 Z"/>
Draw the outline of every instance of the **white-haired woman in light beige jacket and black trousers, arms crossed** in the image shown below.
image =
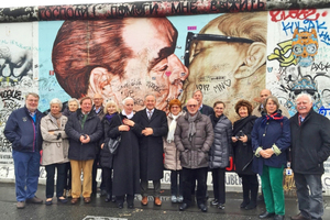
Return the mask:
<path id="1" fill-rule="evenodd" d="M 41 120 L 41 133 L 43 136 L 42 165 L 45 166 L 47 173 L 45 201 L 47 206 L 53 204 L 55 168 L 57 169 L 57 201 L 67 202 L 67 199 L 63 197 L 63 191 L 69 146 L 67 135 L 64 131 L 67 117 L 61 113 L 62 102 L 55 98 L 51 100 L 50 105 L 51 112 Z"/>

